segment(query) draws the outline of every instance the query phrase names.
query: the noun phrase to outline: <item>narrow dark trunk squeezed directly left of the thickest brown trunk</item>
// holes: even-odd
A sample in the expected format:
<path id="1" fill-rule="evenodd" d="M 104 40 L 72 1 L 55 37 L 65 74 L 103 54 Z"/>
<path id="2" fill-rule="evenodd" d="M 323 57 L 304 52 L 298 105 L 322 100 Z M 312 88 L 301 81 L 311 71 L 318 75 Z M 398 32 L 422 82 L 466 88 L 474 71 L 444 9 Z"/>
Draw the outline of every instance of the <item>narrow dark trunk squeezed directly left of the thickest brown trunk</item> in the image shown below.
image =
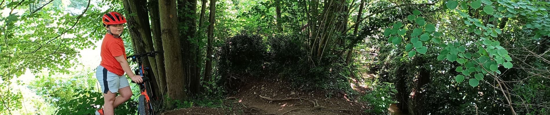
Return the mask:
<path id="1" fill-rule="evenodd" d="M 151 16 L 151 33 L 153 34 L 153 48 L 155 51 L 163 51 L 161 39 L 161 23 L 158 17 L 158 0 L 149 0 L 149 15 Z M 166 73 L 164 70 L 164 54 L 160 53 L 156 58 L 157 76 L 156 81 L 160 89 L 161 96 L 166 94 Z"/>

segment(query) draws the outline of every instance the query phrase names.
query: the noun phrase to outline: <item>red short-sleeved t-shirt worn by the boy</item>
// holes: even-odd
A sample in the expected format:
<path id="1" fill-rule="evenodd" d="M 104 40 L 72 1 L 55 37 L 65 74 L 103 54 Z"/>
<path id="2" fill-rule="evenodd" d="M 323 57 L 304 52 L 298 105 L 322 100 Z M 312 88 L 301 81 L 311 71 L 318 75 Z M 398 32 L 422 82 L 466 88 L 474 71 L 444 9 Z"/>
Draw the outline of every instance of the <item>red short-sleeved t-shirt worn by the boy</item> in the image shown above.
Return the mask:
<path id="1" fill-rule="evenodd" d="M 124 70 L 117 59 L 114 58 L 122 55 L 124 55 L 124 59 L 126 59 L 126 50 L 124 49 L 124 41 L 122 41 L 122 38 L 114 38 L 111 34 L 105 34 L 103 43 L 101 43 L 100 65 L 109 72 L 122 76 L 124 75 Z"/>

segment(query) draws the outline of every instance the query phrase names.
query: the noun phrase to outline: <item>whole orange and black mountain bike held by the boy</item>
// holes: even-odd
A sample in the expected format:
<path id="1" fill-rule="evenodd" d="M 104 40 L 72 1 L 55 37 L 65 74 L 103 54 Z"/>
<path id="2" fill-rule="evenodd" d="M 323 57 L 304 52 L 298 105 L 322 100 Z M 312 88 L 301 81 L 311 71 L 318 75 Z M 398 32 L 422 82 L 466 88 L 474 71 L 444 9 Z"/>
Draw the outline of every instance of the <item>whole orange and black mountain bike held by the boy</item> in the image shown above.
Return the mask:
<path id="1" fill-rule="evenodd" d="M 138 84 L 140 88 L 141 95 L 138 98 L 138 113 L 139 115 L 155 115 L 155 101 L 158 101 L 157 96 L 155 95 L 155 91 L 152 89 L 151 83 L 149 82 L 151 79 L 148 76 L 147 71 L 150 69 L 148 67 L 145 67 L 142 63 L 143 58 L 146 57 L 155 57 L 158 53 L 164 53 L 164 51 L 151 51 L 146 53 L 141 53 L 138 55 L 128 56 L 126 57 L 131 58 L 132 62 L 138 63 L 138 69 L 136 69 L 134 72 L 136 75 L 142 76 L 143 82 L 136 83 Z M 132 81 L 132 83 L 135 83 Z"/>

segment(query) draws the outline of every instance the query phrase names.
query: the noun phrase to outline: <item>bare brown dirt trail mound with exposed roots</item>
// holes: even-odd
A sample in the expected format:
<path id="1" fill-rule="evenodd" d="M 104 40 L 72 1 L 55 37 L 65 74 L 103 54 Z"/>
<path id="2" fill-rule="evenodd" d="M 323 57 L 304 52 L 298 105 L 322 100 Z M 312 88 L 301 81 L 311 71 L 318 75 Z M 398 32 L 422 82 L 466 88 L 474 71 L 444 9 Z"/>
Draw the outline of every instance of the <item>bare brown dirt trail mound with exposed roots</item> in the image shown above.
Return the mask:
<path id="1" fill-rule="evenodd" d="M 346 94 L 326 98 L 323 92 L 293 89 L 288 82 L 277 80 L 249 81 L 226 101 L 226 108 L 194 107 L 163 114 L 344 115 L 365 114 L 368 109 L 366 104 L 349 100 Z"/>

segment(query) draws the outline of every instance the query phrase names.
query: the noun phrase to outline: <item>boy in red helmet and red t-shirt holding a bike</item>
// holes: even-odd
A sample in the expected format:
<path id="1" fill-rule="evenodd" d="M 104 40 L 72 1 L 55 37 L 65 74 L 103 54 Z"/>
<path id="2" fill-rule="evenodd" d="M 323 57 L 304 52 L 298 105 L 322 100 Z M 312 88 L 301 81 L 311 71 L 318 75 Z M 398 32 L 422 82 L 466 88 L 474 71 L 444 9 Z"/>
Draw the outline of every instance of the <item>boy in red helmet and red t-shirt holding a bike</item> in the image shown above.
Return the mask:
<path id="1" fill-rule="evenodd" d="M 120 34 L 124 31 L 126 19 L 117 12 L 109 12 L 103 15 L 103 26 L 107 34 L 101 44 L 101 64 L 97 66 L 96 77 L 100 82 L 101 91 L 105 98 L 103 108 L 96 111 L 96 115 L 113 115 L 114 108 L 124 103 L 132 96 L 132 90 L 124 72 L 132 81 L 141 83 L 139 75 L 134 75 L 126 60 L 124 42 Z M 117 93 L 120 95 L 117 96 Z"/>

